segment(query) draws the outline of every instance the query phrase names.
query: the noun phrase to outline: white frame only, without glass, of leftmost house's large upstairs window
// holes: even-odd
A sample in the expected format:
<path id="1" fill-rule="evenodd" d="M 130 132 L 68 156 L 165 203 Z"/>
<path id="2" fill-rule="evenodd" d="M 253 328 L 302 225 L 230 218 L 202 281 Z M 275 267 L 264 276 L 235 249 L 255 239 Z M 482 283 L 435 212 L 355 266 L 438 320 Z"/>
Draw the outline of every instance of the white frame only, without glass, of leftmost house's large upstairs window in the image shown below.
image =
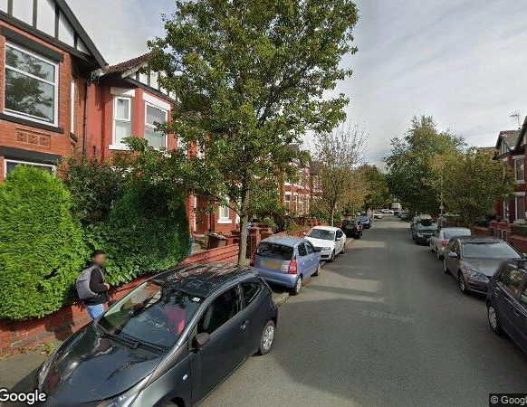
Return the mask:
<path id="1" fill-rule="evenodd" d="M 5 58 L 5 55 L 7 54 L 7 47 L 11 47 L 17 51 L 20 51 L 20 52 L 24 52 L 24 53 L 27 53 L 28 55 L 31 55 L 32 57 L 36 58 L 37 60 L 40 60 L 42 62 L 46 62 L 46 63 L 49 63 L 50 65 L 53 65 L 55 67 L 55 77 L 54 77 L 54 81 L 50 81 L 50 80 L 43 80 L 42 78 L 39 78 L 38 76 L 35 76 L 35 75 L 32 75 L 31 73 L 28 73 L 26 71 L 22 71 L 22 70 L 19 70 L 18 68 L 14 68 L 12 66 L 9 66 L 7 65 L 7 60 Z M 5 71 L 9 69 L 11 71 L 14 71 L 14 72 L 17 72 L 17 73 L 20 73 L 22 75 L 25 75 L 29 78 L 32 78 L 34 80 L 39 80 L 43 83 L 47 83 L 48 85 L 52 85 L 53 86 L 53 122 L 49 121 L 49 120 L 43 120 L 43 118 L 37 118 L 35 116 L 31 116 L 31 115 L 28 115 L 28 114 L 24 114 L 23 112 L 17 112 L 16 110 L 10 110 L 10 109 L 5 109 L 5 83 L 4 83 L 4 113 L 6 115 L 9 115 L 9 116 L 14 116 L 16 118 L 25 118 L 27 120 L 31 120 L 31 121 L 34 121 L 36 123 L 43 123 L 43 124 L 46 124 L 46 125 L 49 125 L 49 126 L 55 126 L 57 127 L 58 126 L 58 123 L 59 123 L 59 64 L 57 62 L 54 62 L 52 60 L 49 60 L 37 53 L 34 53 L 34 52 L 31 52 L 31 51 L 28 51 L 26 50 L 25 48 L 23 47 L 20 47 L 18 45 L 15 45 L 14 43 L 10 43 L 8 41 L 5 42 L 5 47 L 4 47 L 4 80 L 5 80 Z"/>

